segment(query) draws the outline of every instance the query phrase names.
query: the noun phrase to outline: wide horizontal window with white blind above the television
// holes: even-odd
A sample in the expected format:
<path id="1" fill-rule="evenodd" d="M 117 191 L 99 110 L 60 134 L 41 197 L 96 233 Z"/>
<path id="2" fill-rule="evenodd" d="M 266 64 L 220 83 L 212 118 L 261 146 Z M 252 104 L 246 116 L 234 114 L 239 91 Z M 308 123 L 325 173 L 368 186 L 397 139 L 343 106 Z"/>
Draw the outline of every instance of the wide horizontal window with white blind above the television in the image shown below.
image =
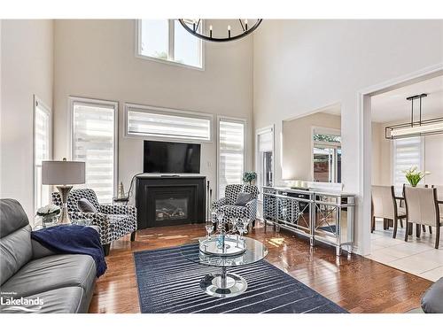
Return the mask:
<path id="1" fill-rule="evenodd" d="M 126 104 L 127 135 L 175 141 L 211 141 L 211 115 Z"/>

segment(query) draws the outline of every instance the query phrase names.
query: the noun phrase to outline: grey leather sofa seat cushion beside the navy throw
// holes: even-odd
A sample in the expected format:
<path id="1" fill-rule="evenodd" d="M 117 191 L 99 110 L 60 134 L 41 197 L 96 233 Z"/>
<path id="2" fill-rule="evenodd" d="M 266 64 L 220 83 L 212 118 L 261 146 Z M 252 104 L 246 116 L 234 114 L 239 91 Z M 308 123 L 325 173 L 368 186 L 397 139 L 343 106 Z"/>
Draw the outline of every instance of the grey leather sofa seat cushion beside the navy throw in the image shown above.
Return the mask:
<path id="1" fill-rule="evenodd" d="M 53 255 L 31 260 L 2 285 L 2 291 L 28 297 L 47 290 L 78 286 L 92 291 L 96 263 L 89 255 Z"/>

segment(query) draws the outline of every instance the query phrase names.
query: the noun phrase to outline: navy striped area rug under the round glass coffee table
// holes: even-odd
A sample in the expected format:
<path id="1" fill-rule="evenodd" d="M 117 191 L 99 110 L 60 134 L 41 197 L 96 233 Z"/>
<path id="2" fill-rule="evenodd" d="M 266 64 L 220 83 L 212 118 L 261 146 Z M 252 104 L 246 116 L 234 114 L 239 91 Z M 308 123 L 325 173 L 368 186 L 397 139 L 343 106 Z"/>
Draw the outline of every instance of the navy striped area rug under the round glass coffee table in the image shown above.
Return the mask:
<path id="1" fill-rule="evenodd" d="M 346 313 L 264 260 L 229 267 L 246 279 L 248 289 L 238 297 L 218 298 L 206 295 L 199 281 L 220 267 L 191 262 L 179 247 L 136 251 L 134 258 L 142 313 Z"/>

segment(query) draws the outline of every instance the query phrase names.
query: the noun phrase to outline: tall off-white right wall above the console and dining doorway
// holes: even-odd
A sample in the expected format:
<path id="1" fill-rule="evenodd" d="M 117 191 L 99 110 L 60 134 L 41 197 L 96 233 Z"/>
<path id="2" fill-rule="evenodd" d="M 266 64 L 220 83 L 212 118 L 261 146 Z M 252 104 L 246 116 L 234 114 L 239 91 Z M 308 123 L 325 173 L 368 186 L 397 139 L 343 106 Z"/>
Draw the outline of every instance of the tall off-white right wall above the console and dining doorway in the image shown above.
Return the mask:
<path id="1" fill-rule="evenodd" d="M 276 184 L 281 121 L 339 102 L 342 181 L 358 194 L 358 91 L 442 63 L 443 21 L 264 20 L 253 49 L 254 128 L 276 124 Z"/>

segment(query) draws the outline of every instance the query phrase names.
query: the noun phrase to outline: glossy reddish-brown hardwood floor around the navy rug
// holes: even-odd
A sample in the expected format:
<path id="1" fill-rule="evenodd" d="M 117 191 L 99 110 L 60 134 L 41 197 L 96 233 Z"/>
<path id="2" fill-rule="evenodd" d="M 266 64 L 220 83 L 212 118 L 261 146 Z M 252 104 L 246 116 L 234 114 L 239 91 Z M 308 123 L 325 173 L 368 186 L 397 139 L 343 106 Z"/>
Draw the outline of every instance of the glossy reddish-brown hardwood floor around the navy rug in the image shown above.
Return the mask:
<path id="1" fill-rule="evenodd" d="M 106 258 L 108 270 L 97 281 L 89 313 L 139 313 L 134 251 L 153 250 L 186 243 L 205 234 L 204 225 L 148 228 L 116 241 Z M 420 305 L 431 282 L 389 266 L 353 255 L 335 256 L 335 248 L 272 227 L 265 232 L 257 222 L 250 236 L 266 243 L 269 263 L 304 282 L 351 313 L 405 313 Z"/>

